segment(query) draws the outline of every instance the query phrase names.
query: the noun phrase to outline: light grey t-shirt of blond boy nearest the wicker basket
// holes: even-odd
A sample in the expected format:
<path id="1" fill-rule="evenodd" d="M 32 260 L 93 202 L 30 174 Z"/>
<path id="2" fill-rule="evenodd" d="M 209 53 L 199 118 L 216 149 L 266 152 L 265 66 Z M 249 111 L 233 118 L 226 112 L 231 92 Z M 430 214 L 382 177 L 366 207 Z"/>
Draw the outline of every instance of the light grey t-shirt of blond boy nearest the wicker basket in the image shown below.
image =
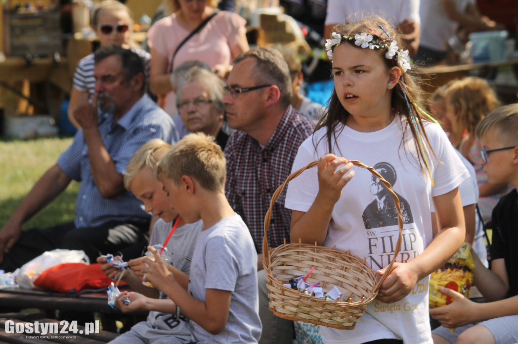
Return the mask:
<path id="1" fill-rule="evenodd" d="M 202 343 L 257 343 L 261 337 L 257 289 L 257 253 L 252 236 L 239 215 L 202 231 L 194 249 L 189 290 L 205 301 L 207 289 L 232 291 L 228 321 L 212 335 L 194 321 L 193 339 Z"/>

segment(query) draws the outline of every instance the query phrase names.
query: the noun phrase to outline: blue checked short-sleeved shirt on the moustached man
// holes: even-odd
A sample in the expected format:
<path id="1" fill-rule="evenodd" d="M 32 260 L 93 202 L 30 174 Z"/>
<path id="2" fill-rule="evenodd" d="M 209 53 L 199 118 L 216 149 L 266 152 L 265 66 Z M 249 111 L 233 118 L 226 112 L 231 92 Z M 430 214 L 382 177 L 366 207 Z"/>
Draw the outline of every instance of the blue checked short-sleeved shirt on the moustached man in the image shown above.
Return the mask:
<path id="1" fill-rule="evenodd" d="M 124 174 L 133 154 L 151 139 L 169 143 L 178 141 L 178 132 L 171 117 L 147 95 L 115 122 L 112 114 L 99 114 L 98 128 L 117 172 Z M 141 221 L 148 219 L 142 203 L 133 193 L 124 191 L 113 198 L 104 198 L 95 185 L 90 171 L 88 147 L 79 130 L 72 144 L 57 159 L 61 170 L 71 179 L 80 181 L 76 201 L 77 228 L 96 227 L 108 221 Z"/>

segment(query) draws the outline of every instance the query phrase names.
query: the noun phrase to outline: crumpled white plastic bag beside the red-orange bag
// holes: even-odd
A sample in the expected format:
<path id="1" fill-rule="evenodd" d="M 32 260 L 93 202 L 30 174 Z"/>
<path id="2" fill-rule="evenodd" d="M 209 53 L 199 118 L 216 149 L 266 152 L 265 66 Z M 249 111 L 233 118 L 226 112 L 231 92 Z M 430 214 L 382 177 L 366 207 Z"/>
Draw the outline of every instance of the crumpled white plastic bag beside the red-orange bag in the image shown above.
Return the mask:
<path id="1" fill-rule="evenodd" d="M 63 263 L 79 263 L 85 261 L 90 263 L 88 256 L 83 250 L 64 250 L 56 248 L 52 251 L 42 253 L 42 255 L 25 263 L 20 267 L 17 276 L 17 283 L 20 288 L 36 289 L 33 281 L 50 267 Z"/>

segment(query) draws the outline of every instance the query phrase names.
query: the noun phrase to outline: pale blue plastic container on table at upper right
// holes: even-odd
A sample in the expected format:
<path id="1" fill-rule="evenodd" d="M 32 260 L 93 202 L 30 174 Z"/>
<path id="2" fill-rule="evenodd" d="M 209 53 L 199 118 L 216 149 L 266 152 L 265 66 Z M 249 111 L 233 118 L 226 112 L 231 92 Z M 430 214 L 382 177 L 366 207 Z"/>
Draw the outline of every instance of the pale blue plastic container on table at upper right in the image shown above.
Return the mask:
<path id="1" fill-rule="evenodd" d="M 469 34 L 472 42 L 472 56 L 474 63 L 497 62 L 507 59 L 508 33 L 501 31 L 482 31 Z"/>

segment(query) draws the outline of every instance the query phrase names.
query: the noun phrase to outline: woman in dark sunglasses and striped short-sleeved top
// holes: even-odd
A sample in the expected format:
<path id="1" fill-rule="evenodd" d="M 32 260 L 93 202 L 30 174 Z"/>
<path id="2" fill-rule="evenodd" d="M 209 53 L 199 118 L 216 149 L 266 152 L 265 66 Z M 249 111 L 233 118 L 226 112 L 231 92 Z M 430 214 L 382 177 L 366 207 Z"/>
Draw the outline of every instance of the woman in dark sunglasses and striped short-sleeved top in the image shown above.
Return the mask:
<path id="1" fill-rule="evenodd" d="M 131 49 L 142 57 L 146 63 L 146 77 L 149 75 L 149 60 L 151 55 L 131 41 L 130 32 L 133 27 L 130 10 L 115 0 L 105 0 L 95 6 L 92 12 L 92 29 L 99 38 L 100 47 L 113 45 Z M 94 53 L 91 53 L 79 61 L 74 74 L 74 86 L 70 91 L 68 104 L 68 118 L 76 128 L 79 124 L 74 118 L 73 109 L 83 96 L 93 96 L 95 87 L 94 78 Z"/>

